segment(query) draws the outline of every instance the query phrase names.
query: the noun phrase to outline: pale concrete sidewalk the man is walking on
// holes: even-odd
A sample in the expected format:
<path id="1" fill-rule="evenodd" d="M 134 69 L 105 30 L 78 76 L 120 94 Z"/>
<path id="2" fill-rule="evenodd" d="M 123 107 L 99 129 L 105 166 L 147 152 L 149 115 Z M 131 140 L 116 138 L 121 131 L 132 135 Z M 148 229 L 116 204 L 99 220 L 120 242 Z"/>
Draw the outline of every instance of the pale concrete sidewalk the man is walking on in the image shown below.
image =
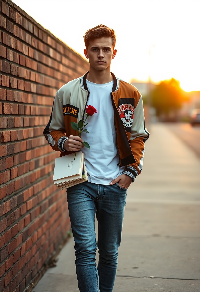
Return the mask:
<path id="1" fill-rule="evenodd" d="M 113 292 L 200 291 L 200 161 L 164 124 L 146 142 L 142 175 L 129 187 Z M 74 241 L 34 292 L 77 288 Z"/>

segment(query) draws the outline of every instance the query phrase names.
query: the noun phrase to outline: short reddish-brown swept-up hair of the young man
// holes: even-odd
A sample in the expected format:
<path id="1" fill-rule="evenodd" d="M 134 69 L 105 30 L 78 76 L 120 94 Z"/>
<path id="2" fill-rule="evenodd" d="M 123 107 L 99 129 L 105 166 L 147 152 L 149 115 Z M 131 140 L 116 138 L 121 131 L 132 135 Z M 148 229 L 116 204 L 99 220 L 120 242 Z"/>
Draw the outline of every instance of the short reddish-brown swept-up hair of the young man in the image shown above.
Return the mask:
<path id="1" fill-rule="evenodd" d="M 114 49 L 115 43 L 116 43 L 116 36 L 115 36 L 114 29 L 107 27 L 103 24 L 100 24 L 98 26 L 90 28 L 89 30 L 87 30 L 87 32 L 85 33 L 85 35 L 83 37 L 84 37 L 86 48 L 88 48 L 88 46 L 89 46 L 89 41 L 91 41 L 93 39 L 99 39 L 101 37 L 111 37 L 113 49 Z"/>

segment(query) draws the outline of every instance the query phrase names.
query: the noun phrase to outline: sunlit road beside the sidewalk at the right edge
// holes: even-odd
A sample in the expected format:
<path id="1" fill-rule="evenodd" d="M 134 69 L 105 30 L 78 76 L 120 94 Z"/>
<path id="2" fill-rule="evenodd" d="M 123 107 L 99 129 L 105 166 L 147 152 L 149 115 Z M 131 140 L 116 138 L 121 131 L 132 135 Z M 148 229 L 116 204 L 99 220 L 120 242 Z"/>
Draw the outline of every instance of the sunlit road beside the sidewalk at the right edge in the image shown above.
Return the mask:
<path id="1" fill-rule="evenodd" d="M 188 123 L 165 124 L 200 158 L 200 125 L 191 126 Z"/>

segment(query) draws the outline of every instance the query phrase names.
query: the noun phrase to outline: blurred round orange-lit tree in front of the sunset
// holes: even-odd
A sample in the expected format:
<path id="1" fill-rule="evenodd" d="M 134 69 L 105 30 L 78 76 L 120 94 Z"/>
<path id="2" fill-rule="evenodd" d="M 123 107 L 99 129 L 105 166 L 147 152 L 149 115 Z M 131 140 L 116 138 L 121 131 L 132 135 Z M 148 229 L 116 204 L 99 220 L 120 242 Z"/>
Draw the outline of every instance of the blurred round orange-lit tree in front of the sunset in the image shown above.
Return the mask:
<path id="1" fill-rule="evenodd" d="M 151 93 L 152 106 L 156 109 L 156 115 L 165 120 L 177 118 L 177 110 L 184 101 L 183 90 L 179 81 L 172 78 L 161 81 Z"/>

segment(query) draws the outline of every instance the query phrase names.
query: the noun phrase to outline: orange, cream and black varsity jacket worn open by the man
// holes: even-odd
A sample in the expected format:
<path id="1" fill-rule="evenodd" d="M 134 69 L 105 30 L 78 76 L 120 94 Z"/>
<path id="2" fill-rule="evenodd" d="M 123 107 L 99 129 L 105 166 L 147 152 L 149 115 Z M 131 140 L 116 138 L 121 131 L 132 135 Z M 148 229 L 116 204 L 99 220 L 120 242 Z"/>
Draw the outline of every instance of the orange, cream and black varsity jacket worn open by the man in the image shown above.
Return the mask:
<path id="1" fill-rule="evenodd" d="M 71 122 L 84 118 L 89 90 L 86 76 L 77 78 L 63 85 L 56 93 L 49 123 L 44 135 L 51 147 L 64 156 L 73 151 L 63 148 L 70 135 L 78 135 Z M 118 166 L 125 166 L 126 175 L 135 180 L 142 171 L 144 142 L 149 138 L 145 128 L 142 96 L 133 85 L 115 77 L 111 92 L 116 130 L 116 147 L 119 154 Z"/>

